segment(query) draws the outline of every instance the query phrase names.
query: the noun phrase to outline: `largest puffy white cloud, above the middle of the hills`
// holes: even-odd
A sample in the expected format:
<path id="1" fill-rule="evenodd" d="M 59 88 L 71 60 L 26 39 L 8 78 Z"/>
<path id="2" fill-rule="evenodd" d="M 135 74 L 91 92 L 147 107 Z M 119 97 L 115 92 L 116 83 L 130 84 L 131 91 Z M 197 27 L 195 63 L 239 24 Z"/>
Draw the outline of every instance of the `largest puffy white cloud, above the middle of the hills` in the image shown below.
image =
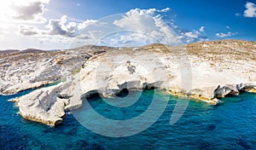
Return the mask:
<path id="1" fill-rule="evenodd" d="M 170 9 L 131 9 L 120 20 L 114 20 L 113 24 L 122 30 L 137 32 L 125 35 L 120 38 L 120 43 L 141 41 L 141 43 L 167 43 L 180 44 L 182 40 L 178 38 L 177 32 L 173 31 L 172 26 L 166 25 L 162 19 L 163 13 Z M 139 38 L 136 38 L 137 37 Z M 127 38 L 127 40 L 124 40 Z M 128 40 L 129 39 L 129 40 Z M 154 40 L 153 40 L 154 39 Z M 136 41 L 137 40 L 137 41 Z"/>

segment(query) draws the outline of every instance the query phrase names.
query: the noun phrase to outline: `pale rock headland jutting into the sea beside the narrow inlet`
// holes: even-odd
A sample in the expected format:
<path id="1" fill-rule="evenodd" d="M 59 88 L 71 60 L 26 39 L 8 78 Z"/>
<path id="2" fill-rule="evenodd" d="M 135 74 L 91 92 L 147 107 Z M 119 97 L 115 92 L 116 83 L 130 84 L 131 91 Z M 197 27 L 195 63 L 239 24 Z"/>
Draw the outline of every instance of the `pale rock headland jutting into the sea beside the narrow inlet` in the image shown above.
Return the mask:
<path id="1" fill-rule="evenodd" d="M 64 107 L 68 104 L 66 99 L 58 97 L 61 89 L 61 84 L 58 84 L 18 97 L 14 101 L 20 109 L 20 115 L 23 118 L 53 126 L 61 124 L 65 116 Z"/>

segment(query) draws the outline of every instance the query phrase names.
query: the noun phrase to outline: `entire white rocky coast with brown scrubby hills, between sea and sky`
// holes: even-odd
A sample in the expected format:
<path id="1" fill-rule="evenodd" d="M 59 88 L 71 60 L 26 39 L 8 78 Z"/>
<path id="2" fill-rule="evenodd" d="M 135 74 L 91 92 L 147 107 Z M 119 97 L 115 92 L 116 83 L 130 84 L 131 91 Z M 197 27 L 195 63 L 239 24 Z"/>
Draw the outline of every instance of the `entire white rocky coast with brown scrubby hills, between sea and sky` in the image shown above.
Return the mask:
<path id="1" fill-rule="evenodd" d="M 15 94 L 62 79 L 13 100 L 22 117 L 50 125 L 61 124 L 65 110 L 81 107 L 83 97 L 96 93 L 111 97 L 122 89 L 164 89 L 216 105 L 226 95 L 256 92 L 255 54 L 255 42 L 240 40 L 184 47 L 155 43 L 139 48 L 15 52 L 0 55 L 0 93 Z"/>

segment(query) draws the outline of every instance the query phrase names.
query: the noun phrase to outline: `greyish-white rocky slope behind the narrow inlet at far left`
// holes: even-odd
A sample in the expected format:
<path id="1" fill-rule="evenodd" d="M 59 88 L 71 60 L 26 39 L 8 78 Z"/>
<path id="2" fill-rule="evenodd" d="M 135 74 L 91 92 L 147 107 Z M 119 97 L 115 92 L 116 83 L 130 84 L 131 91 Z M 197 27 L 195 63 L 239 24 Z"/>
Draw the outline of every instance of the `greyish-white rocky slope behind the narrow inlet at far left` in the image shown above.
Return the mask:
<path id="1" fill-rule="evenodd" d="M 27 49 L 0 55 L 0 94 L 12 95 L 54 83 L 78 70 L 91 57 L 87 49 Z"/>

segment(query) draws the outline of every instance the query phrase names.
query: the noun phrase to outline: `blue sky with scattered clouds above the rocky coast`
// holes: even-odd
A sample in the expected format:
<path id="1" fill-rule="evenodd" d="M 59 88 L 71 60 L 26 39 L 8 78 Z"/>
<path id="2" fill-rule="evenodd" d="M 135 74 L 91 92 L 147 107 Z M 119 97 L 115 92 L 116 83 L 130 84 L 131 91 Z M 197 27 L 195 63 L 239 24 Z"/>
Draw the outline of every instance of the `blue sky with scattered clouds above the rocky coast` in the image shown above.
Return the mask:
<path id="1" fill-rule="evenodd" d="M 256 40 L 256 0 L 1 0 L 1 49 Z"/>

